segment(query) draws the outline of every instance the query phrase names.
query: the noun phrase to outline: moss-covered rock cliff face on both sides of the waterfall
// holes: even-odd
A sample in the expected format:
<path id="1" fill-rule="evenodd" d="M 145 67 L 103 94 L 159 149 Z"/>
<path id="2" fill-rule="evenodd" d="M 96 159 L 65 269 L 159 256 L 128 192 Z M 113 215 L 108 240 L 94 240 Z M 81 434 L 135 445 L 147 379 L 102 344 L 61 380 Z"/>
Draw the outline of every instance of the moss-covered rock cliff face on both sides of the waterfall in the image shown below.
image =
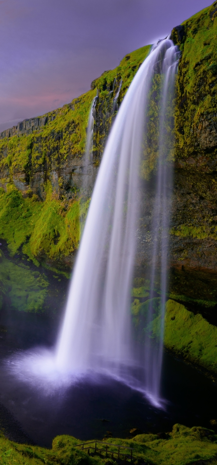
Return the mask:
<path id="1" fill-rule="evenodd" d="M 187 299 L 191 309 L 200 295 L 198 305 L 204 314 L 217 305 L 216 38 L 217 2 L 172 31 L 182 56 L 176 83 L 170 293 L 180 301 Z M 35 263 L 70 269 L 109 129 L 149 50 L 145 46 L 126 55 L 70 104 L 0 134 L 0 237 L 7 240 L 11 253 L 19 251 Z M 85 166 L 86 128 L 94 99 L 93 163 Z M 152 140 L 154 146 L 154 135 Z M 142 198 L 138 276 L 145 274 L 151 260 L 151 184 L 156 165 L 146 160 L 145 166 L 149 189 Z M 8 213 L 12 205 L 15 216 Z"/>

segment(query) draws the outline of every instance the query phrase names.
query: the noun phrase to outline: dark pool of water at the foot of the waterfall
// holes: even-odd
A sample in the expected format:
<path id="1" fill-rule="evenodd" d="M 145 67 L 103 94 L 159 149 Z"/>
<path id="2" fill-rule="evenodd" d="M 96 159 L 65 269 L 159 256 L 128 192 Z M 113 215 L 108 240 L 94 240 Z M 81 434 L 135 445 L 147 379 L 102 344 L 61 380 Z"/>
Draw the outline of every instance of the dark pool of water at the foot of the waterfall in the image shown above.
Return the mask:
<path id="1" fill-rule="evenodd" d="M 1 360 L 34 345 L 49 346 L 55 340 L 57 321 L 23 313 L 4 318 L 0 321 Z M 14 440 L 48 447 L 58 434 L 87 440 L 111 434 L 130 437 L 132 428 L 167 432 L 175 423 L 213 428 L 210 419 L 217 418 L 217 385 L 167 353 L 162 395 L 166 409 L 158 410 L 142 394 L 101 377 L 97 383 L 83 381 L 65 392 L 45 397 L 39 390 L 12 378 L 2 367 L 0 426 Z"/>

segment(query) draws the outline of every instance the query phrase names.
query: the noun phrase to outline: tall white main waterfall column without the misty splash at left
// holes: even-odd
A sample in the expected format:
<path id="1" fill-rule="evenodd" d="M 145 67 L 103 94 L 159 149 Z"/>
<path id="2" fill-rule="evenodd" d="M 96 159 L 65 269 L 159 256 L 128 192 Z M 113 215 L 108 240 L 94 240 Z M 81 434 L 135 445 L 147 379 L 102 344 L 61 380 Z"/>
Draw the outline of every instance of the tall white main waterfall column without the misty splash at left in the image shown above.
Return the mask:
<path id="1" fill-rule="evenodd" d="M 173 42 L 168 39 L 159 41 L 142 63 L 122 101 L 96 179 L 56 347 L 57 366 L 67 372 L 103 369 L 122 379 L 130 375 L 132 384 L 133 367 L 141 365 L 141 360 L 135 358 L 131 334 L 130 288 L 139 217 L 139 167 L 147 133 L 149 93 L 153 76 L 160 69 L 164 84 L 150 293 L 152 297 L 160 247 L 161 328 L 159 341 L 154 347 L 145 341 L 142 367 L 143 389 L 155 399 L 159 398 L 160 389 L 167 283 L 166 232 L 170 219 L 167 176 L 169 171 L 171 176 L 171 170 L 168 170 L 171 141 L 168 143 L 167 139 L 171 137 L 167 134 L 165 118 L 168 104 L 170 106 L 173 100 L 177 62 L 178 49 Z M 150 321 L 152 314 L 150 305 Z"/>

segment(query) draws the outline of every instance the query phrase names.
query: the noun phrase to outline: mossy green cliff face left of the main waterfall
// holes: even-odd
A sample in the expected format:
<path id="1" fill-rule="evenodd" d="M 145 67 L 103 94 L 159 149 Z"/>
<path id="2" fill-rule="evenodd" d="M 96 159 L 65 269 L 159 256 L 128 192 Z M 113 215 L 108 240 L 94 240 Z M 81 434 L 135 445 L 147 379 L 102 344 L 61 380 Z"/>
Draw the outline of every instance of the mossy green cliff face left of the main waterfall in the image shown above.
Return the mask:
<path id="1" fill-rule="evenodd" d="M 116 114 L 114 98 L 120 81 L 118 103 L 149 49 L 145 46 L 127 55 L 120 66 L 95 80 L 92 90 L 47 113 L 40 120 L 43 125 L 25 123 L 1 133 L 0 237 L 7 240 L 12 255 L 20 249 L 35 264 L 46 262 L 70 271 L 89 203 L 89 192 L 85 197 L 81 193 L 88 175 L 83 157 L 92 101 L 97 93 L 93 184 Z"/>

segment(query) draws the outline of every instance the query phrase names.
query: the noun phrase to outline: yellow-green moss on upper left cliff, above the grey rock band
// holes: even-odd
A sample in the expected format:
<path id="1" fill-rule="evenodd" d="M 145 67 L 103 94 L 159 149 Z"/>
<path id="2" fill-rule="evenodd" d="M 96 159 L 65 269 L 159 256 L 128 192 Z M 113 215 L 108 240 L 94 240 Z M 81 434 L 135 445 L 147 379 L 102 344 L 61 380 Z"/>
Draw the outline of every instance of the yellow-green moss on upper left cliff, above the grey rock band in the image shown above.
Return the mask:
<path id="1" fill-rule="evenodd" d="M 124 57 L 120 66 L 106 71 L 96 79 L 93 90 L 54 112 L 46 113 L 48 122 L 44 127 L 27 136 L 0 140 L 0 171 L 6 172 L 6 178 L 2 182 L 13 182 L 14 173 L 21 172 L 24 173 L 22 180 L 29 184 L 36 171 L 46 170 L 49 173 L 54 167 L 63 166 L 72 157 L 81 157 L 85 152 L 88 116 L 96 87 L 100 98 L 106 101 L 110 94 L 107 88 L 103 90 L 105 83 L 110 88 L 115 77 L 122 78 L 123 85 L 119 95 L 121 101 L 149 49 L 150 46 L 144 46 L 130 53 L 128 60 Z M 110 96 L 111 102 L 112 99 L 113 96 Z M 100 146 L 99 138 L 98 145 Z M 95 151 L 99 146 L 95 147 Z"/>

